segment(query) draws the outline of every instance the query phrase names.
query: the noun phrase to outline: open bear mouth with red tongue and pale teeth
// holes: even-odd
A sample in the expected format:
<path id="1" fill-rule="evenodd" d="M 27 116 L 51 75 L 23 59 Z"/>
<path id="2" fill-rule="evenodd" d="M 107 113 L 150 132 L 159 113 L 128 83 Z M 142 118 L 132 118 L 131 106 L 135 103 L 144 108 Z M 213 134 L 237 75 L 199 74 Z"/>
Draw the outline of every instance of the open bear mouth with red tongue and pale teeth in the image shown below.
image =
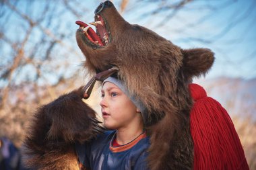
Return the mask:
<path id="1" fill-rule="evenodd" d="M 94 17 L 95 22 L 89 23 L 96 27 L 96 32 L 86 23 L 77 21 L 77 24 L 80 30 L 83 30 L 84 35 L 90 42 L 97 46 L 106 46 L 110 42 L 110 32 L 108 32 L 106 22 L 104 22 L 103 17 L 100 15 L 95 15 Z"/>

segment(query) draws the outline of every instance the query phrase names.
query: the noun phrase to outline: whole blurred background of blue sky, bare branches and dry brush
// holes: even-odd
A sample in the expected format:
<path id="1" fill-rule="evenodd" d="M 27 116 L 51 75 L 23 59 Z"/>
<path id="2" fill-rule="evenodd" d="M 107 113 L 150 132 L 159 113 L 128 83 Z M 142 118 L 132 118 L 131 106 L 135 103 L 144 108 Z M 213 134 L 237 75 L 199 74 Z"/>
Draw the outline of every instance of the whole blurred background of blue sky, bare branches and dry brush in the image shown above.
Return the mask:
<path id="1" fill-rule="evenodd" d="M 84 85 L 76 20 L 94 20 L 101 1 L 0 0 L 0 137 L 20 148 L 38 105 Z M 256 169 L 256 1 L 113 0 L 131 24 L 181 48 L 210 48 L 214 67 L 195 79 L 230 114 Z M 100 112 L 100 93 L 86 101 Z M 1 145 L 0 145 L 1 146 Z"/>

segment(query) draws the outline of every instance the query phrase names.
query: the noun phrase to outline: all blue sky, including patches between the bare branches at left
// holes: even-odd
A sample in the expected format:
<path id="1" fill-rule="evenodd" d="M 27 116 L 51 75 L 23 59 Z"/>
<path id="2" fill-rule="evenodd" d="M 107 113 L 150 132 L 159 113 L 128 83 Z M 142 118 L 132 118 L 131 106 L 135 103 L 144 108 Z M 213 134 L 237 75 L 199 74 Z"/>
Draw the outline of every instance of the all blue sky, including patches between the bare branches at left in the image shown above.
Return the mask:
<path id="1" fill-rule="evenodd" d="M 26 1 L 20 1 L 19 8 L 26 11 L 26 4 L 22 3 Z M 34 10 L 34 13 L 29 15 L 36 15 L 40 11 L 40 5 L 46 3 L 44 1 L 34 1 L 38 4 Z M 113 1 L 114 4 L 119 7 L 119 0 Z M 179 1 L 162 1 L 166 4 L 174 4 Z M 51 3 L 51 1 L 49 2 Z M 72 69 L 76 70 L 80 67 L 84 56 L 79 50 L 76 40 L 75 31 L 77 30 L 76 20 L 82 20 L 84 22 L 92 22 L 94 16 L 94 9 L 97 7 L 100 1 L 83 1 L 83 5 L 86 6 L 86 11 L 83 13 L 82 18 L 77 18 L 74 15 L 60 15 L 55 17 L 53 22 L 59 24 L 59 31 L 69 34 L 65 43 L 72 46 L 72 50 L 75 51 L 76 59 L 73 56 L 65 56 L 65 51 L 57 50 L 56 56 L 59 56 L 58 60 L 65 59 L 72 60 L 71 69 L 69 72 L 65 69 L 65 66 L 61 67 L 58 72 L 65 74 L 72 74 Z M 61 7 L 53 3 L 51 7 L 61 12 Z M 216 60 L 214 66 L 206 76 L 207 79 L 213 79 L 216 77 L 231 77 L 242 79 L 255 79 L 256 77 L 256 2 L 255 0 L 248 1 L 193 1 L 188 3 L 181 10 L 177 11 L 174 17 L 171 17 L 169 11 L 162 11 L 155 13 L 154 15 L 147 15 L 150 11 L 155 10 L 159 6 L 156 1 L 146 3 L 145 1 L 130 0 L 127 8 L 123 11 L 123 17 L 130 24 L 139 24 L 145 26 L 150 30 L 160 34 L 164 38 L 172 41 L 174 44 L 181 48 L 210 48 L 214 53 Z M 119 9 L 119 8 L 118 8 Z M 23 23 L 20 23 L 19 17 L 15 14 L 12 15 L 9 24 L 7 24 L 9 34 L 8 38 L 22 38 L 22 32 L 18 32 L 19 27 L 24 27 Z M 1 19 L 1 17 L 0 17 Z M 13 20 L 12 20 L 13 19 Z M 164 26 L 162 23 L 164 22 Z M 3 24 L 3 23 L 1 23 Z M 46 23 L 42 23 L 46 25 Z M 51 28 L 49 28 L 51 29 Z M 65 31 L 66 30 L 66 31 Z M 33 34 L 33 38 L 41 38 L 41 35 L 36 31 Z M 31 41 L 30 45 L 34 42 Z M 29 45 L 29 44 L 28 44 Z M 0 57 L 1 62 L 11 62 L 6 58 L 5 53 L 11 51 L 11 48 L 5 48 L 1 46 Z M 54 63 L 46 63 L 55 69 Z M 26 72 L 26 77 L 32 76 L 32 70 L 27 67 L 23 71 Z M 57 71 L 57 70 L 56 70 Z M 49 72 L 47 75 L 50 81 L 55 81 L 56 77 L 52 74 L 51 70 L 45 69 L 45 72 Z M 19 72 L 21 73 L 21 71 Z M 20 74 L 21 75 L 21 74 Z M 17 77 L 17 81 L 22 81 L 24 77 Z M 0 81 L 1 84 L 1 81 Z"/>

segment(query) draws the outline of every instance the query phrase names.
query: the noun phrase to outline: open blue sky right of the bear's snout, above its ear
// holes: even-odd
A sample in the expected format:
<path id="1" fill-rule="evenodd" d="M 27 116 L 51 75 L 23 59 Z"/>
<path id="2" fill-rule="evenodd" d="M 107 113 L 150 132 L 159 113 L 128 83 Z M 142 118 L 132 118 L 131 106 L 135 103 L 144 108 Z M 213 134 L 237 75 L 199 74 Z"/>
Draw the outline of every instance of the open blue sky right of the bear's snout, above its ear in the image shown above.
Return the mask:
<path id="1" fill-rule="evenodd" d="M 205 5 L 216 9 L 198 10 L 198 7 Z M 144 7 L 147 10 L 150 5 Z M 140 11 L 144 9 L 138 9 L 137 13 Z M 210 48 L 216 60 L 207 75 L 209 78 L 256 77 L 256 1 L 195 1 L 170 20 L 166 19 L 166 26 L 161 27 L 159 21 L 164 15 L 168 13 L 140 20 L 132 13 L 124 16 L 133 23 L 154 30 L 181 48 Z M 201 20 L 204 22 L 200 23 Z"/>

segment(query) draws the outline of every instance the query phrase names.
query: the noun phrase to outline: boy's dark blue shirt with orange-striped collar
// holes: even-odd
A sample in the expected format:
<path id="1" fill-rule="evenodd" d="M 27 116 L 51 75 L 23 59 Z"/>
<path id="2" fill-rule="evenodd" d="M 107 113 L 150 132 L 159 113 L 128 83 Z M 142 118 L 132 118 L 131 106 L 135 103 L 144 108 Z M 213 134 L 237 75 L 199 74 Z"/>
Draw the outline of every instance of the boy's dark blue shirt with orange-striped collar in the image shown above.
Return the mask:
<path id="1" fill-rule="evenodd" d="M 79 162 L 92 170 L 144 170 L 148 169 L 147 157 L 150 139 L 146 133 L 133 141 L 114 147 L 116 131 L 106 131 L 92 142 L 76 144 Z"/>

